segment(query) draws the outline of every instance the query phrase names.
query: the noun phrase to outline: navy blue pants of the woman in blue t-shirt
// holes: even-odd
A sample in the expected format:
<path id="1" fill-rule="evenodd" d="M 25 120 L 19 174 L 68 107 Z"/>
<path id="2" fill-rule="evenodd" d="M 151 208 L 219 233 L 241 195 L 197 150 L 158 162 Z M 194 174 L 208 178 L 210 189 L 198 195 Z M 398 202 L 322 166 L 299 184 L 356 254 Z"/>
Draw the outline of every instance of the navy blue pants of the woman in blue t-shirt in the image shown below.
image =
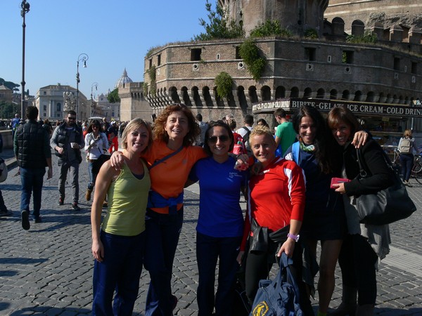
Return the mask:
<path id="1" fill-rule="evenodd" d="M 231 315 L 234 300 L 234 284 L 238 263 L 236 258 L 242 237 L 210 237 L 196 233 L 196 260 L 198 261 L 198 308 L 199 316 Z M 218 268 L 218 287 L 214 294 L 215 268 Z"/>

